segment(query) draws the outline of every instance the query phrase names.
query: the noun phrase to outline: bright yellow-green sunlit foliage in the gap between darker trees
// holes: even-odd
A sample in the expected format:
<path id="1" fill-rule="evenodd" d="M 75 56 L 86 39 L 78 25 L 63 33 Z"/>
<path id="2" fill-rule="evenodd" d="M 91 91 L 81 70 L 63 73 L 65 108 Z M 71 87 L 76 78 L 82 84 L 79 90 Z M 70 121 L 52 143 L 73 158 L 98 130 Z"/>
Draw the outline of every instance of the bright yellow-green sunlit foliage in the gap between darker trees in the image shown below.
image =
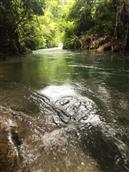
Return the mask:
<path id="1" fill-rule="evenodd" d="M 43 16 L 39 16 L 39 24 L 42 30 L 43 44 L 41 48 L 58 46 L 62 43 L 67 27 L 66 15 L 74 1 L 46 0 L 46 8 Z"/>

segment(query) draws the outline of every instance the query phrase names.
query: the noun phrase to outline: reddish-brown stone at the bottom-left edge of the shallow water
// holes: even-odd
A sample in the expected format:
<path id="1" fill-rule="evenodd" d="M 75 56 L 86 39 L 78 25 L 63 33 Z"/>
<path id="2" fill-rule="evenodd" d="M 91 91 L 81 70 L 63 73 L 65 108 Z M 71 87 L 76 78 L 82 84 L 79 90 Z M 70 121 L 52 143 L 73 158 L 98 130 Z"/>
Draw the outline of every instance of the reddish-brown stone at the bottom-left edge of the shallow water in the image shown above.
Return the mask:
<path id="1" fill-rule="evenodd" d="M 12 121 L 0 115 L 0 171 L 21 172 L 17 148 L 12 140 Z"/>

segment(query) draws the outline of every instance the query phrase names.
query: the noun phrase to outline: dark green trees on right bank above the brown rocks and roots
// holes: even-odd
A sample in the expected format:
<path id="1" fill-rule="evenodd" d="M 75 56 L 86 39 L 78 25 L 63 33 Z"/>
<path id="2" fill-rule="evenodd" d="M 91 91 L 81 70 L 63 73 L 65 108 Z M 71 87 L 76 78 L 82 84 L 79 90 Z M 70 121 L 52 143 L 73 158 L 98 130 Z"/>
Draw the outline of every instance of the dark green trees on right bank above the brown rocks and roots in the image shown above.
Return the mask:
<path id="1" fill-rule="evenodd" d="M 94 39 L 114 42 L 118 49 L 129 45 L 129 3 L 128 0 L 75 0 L 67 16 L 64 45 L 66 48 L 84 47 L 93 44 Z M 99 42 L 99 41 L 98 41 Z M 104 42 L 104 41 L 103 41 Z M 112 43 L 111 43 L 112 44 Z M 111 45 L 110 44 L 110 45 Z M 95 44 L 95 48 L 99 46 Z M 93 45 L 90 46 L 92 48 Z M 116 47 L 116 45 L 112 45 Z M 89 48 L 86 46 L 85 48 Z"/>

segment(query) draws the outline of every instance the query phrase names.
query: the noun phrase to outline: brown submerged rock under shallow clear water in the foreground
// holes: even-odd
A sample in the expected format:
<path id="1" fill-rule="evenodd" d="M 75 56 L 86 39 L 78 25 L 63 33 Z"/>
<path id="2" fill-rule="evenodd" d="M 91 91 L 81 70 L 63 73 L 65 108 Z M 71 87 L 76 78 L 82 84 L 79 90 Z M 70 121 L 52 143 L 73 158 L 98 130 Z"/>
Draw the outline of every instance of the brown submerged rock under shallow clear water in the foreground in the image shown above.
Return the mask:
<path id="1" fill-rule="evenodd" d="M 76 127 L 50 125 L 47 120 L 42 121 L 43 114 L 38 123 L 37 119 L 24 113 L 4 107 L 2 110 L 1 172 L 101 172 L 96 160 L 80 149 L 76 140 Z M 18 126 L 14 125 L 15 122 Z"/>

